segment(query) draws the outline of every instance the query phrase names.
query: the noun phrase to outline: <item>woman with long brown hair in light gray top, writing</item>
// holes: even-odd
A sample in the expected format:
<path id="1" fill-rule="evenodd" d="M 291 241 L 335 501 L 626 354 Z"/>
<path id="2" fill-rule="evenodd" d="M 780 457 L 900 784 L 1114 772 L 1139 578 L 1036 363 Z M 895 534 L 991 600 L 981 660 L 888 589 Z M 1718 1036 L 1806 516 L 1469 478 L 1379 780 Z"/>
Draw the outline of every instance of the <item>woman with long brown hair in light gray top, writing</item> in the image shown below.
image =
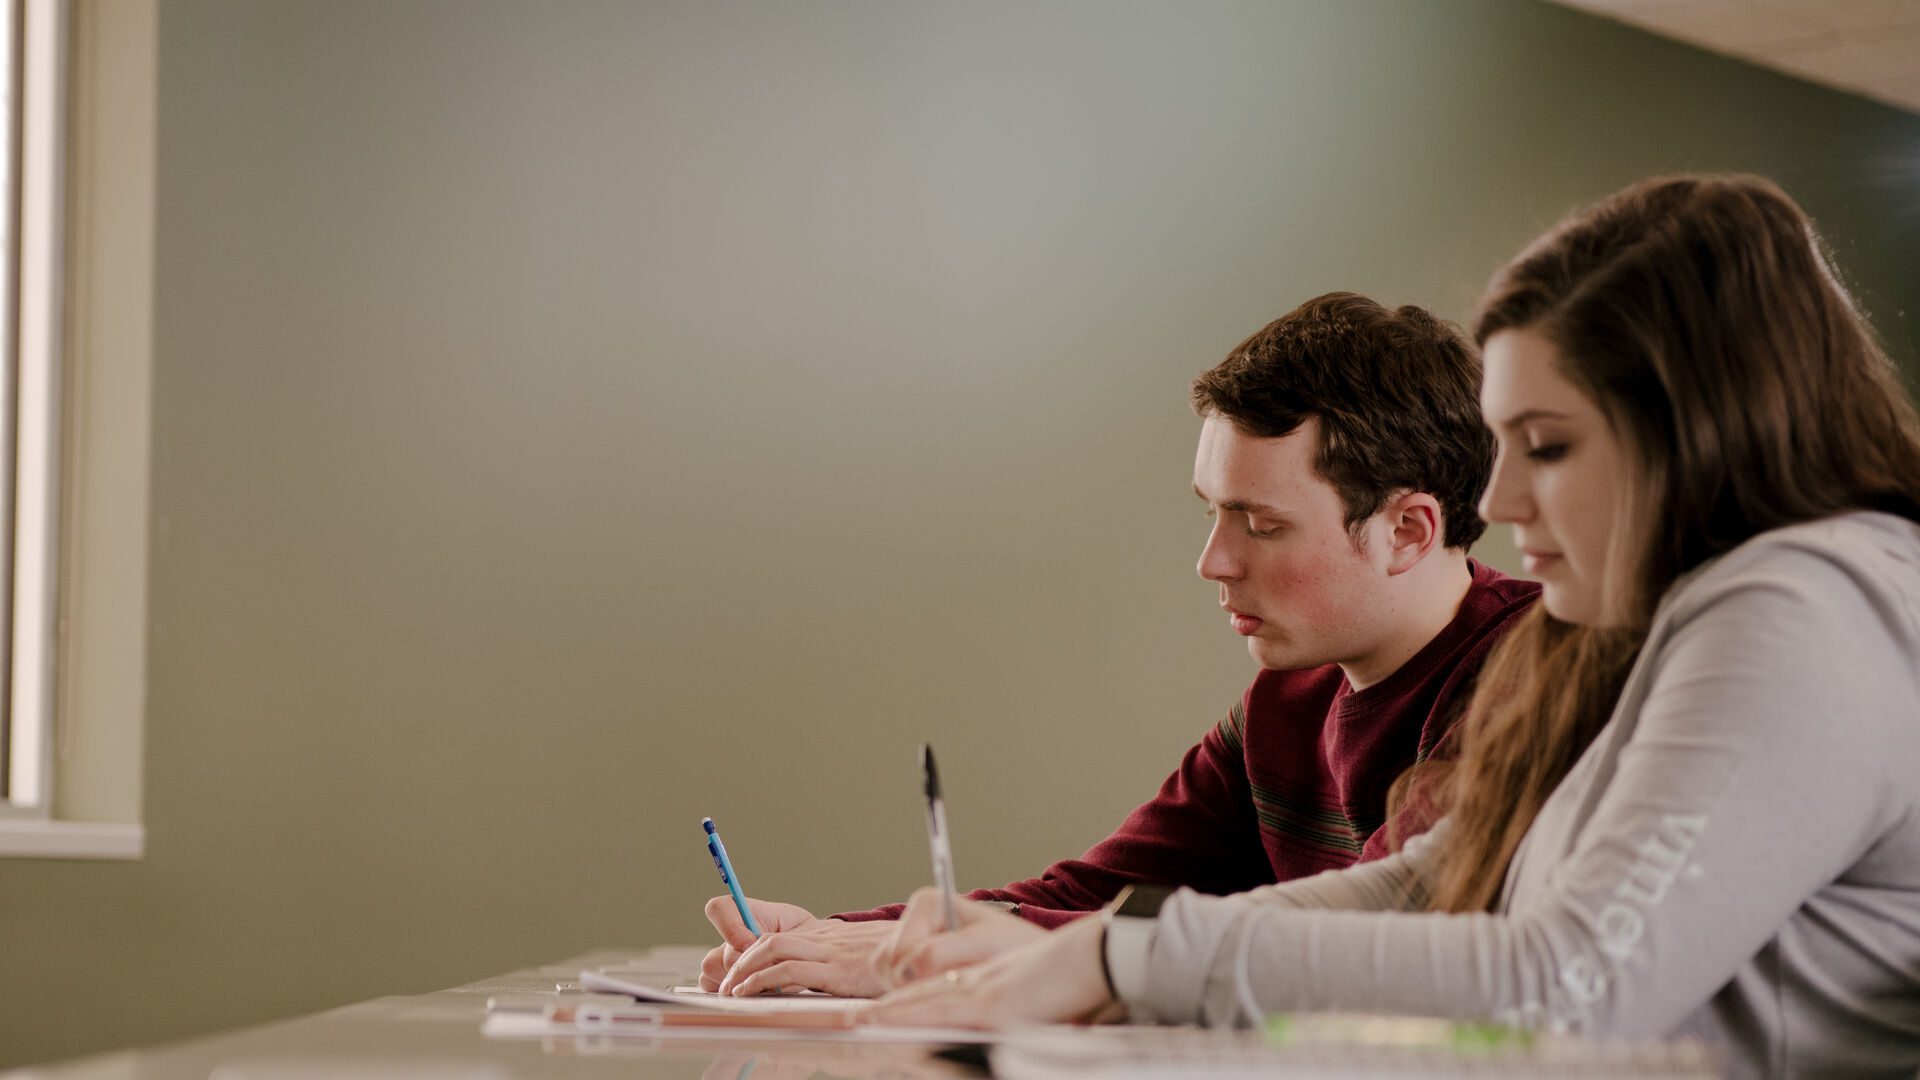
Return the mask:
<path id="1" fill-rule="evenodd" d="M 1920 419 L 1805 213 L 1753 177 L 1636 184 L 1496 275 L 1476 336 L 1480 513 L 1546 592 L 1482 675 L 1448 817 L 1380 863 L 1175 894 L 1144 932 L 1081 920 L 876 1020 L 1117 997 L 1920 1065 Z"/>

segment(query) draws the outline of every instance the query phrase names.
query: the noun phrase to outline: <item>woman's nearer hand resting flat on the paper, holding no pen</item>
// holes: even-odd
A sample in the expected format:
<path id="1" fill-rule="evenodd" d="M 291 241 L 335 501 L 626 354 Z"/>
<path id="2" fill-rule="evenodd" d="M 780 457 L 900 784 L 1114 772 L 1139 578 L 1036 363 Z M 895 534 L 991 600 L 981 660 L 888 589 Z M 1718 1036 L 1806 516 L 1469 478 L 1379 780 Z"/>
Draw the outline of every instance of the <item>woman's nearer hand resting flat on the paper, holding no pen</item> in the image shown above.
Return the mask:
<path id="1" fill-rule="evenodd" d="M 1006 1028 L 1089 1020 L 1114 1005 L 1100 974 L 1100 920 L 1081 919 L 1010 953 L 924 978 L 860 1009 L 870 1024 Z"/>

